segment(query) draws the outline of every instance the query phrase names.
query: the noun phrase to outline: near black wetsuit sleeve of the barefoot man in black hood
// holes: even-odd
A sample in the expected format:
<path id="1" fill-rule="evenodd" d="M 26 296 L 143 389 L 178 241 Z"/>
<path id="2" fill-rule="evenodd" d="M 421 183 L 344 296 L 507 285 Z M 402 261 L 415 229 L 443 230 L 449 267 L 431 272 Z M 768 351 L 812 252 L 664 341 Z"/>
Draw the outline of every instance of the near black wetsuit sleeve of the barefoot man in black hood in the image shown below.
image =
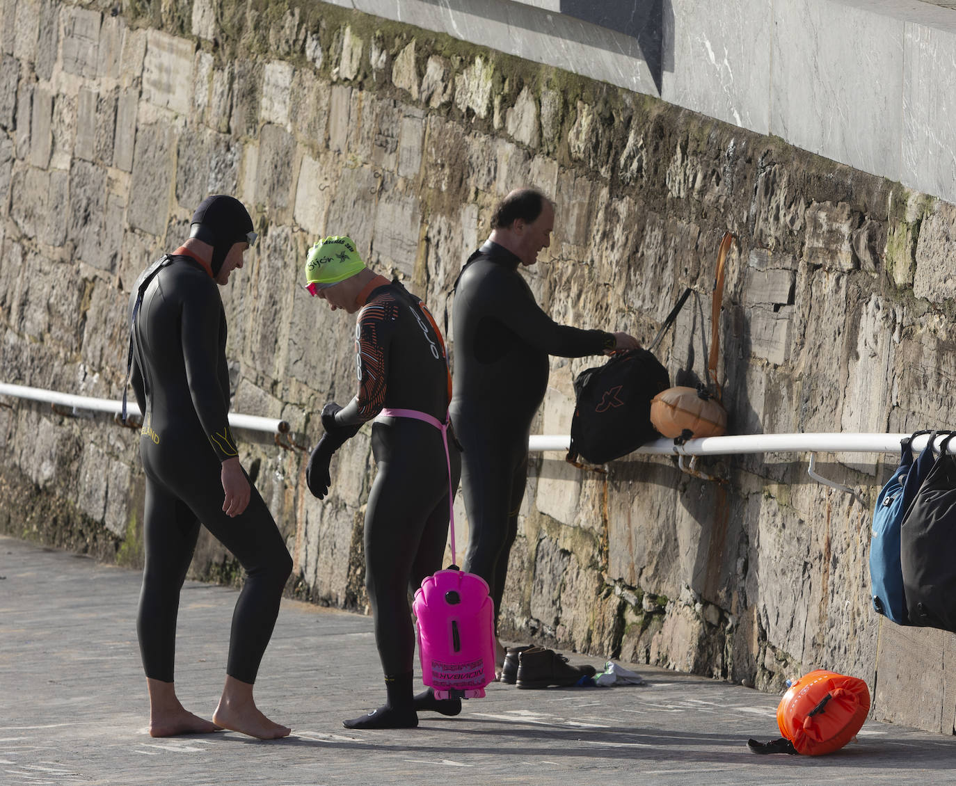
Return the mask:
<path id="1" fill-rule="evenodd" d="M 205 282 L 204 282 L 205 283 Z M 228 422 L 228 391 L 222 389 L 219 368 L 219 330 L 222 300 L 209 280 L 183 301 L 183 360 L 192 405 L 203 425 L 209 445 L 220 461 L 239 454 Z"/>

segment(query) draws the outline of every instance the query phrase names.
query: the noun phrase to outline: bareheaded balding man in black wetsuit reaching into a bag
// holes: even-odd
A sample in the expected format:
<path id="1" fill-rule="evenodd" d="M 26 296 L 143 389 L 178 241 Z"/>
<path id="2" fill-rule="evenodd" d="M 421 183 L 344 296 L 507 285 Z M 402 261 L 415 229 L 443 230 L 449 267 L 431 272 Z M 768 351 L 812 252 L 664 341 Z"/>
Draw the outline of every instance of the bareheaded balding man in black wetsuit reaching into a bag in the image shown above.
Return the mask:
<path id="1" fill-rule="evenodd" d="M 534 301 L 520 266 L 551 245 L 554 206 L 520 188 L 495 208 L 491 234 L 468 258 L 452 306 L 455 393 L 451 420 L 464 448 L 469 537 L 465 570 L 489 583 L 495 623 L 528 472 L 532 419 L 548 385 L 548 356 L 633 349 L 626 333 L 558 325 Z M 495 653 L 504 662 L 501 644 Z"/>

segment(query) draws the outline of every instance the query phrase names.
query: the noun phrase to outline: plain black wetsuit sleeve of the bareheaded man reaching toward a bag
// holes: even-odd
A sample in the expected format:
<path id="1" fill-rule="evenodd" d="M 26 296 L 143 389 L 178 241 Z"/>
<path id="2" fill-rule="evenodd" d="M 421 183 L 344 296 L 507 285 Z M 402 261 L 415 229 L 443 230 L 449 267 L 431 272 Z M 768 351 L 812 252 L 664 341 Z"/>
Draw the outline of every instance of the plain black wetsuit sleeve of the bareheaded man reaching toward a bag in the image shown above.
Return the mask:
<path id="1" fill-rule="evenodd" d="M 559 325 L 534 301 L 531 289 L 518 273 L 501 271 L 493 276 L 493 316 L 535 349 L 561 358 L 600 355 L 614 346 L 614 337 L 603 330 L 581 330 Z"/>

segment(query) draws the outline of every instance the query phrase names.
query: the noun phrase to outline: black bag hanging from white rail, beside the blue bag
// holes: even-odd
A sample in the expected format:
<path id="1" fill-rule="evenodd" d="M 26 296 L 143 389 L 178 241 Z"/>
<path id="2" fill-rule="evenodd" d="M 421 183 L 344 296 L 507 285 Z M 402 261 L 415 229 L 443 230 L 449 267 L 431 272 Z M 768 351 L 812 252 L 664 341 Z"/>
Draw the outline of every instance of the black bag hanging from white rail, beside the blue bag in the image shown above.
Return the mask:
<path id="1" fill-rule="evenodd" d="M 956 456 L 940 455 L 902 520 L 900 563 L 909 622 L 956 633 Z"/>

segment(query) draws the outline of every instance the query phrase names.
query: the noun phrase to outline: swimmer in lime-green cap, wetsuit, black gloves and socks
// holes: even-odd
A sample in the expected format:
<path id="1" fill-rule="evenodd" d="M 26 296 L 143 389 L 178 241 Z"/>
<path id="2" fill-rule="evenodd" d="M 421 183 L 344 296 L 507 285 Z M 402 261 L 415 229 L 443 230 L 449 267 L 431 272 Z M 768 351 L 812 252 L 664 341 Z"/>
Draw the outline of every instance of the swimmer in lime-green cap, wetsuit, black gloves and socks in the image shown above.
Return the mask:
<path id="1" fill-rule="evenodd" d="M 372 426 L 378 467 L 365 511 L 365 586 L 375 620 L 375 641 L 385 673 L 387 700 L 347 729 L 418 726 L 417 710 L 461 711 L 461 699 L 436 700 L 431 688 L 413 695 L 415 632 L 409 590 L 440 570 L 448 516 L 458 487 L 460 458 L 445 433 L 451 379 L 445 343 L 416 296 L 364 266 L 348 237 L 327 237 L 309 251 L 309 292 L 335 311 L 359 312 L 356 368 L 359 392 L 344 407 L 326 404 L 325 434 L 309 461 L 309 489 L 329 491 L 333 452 Z"/>

